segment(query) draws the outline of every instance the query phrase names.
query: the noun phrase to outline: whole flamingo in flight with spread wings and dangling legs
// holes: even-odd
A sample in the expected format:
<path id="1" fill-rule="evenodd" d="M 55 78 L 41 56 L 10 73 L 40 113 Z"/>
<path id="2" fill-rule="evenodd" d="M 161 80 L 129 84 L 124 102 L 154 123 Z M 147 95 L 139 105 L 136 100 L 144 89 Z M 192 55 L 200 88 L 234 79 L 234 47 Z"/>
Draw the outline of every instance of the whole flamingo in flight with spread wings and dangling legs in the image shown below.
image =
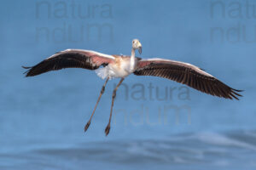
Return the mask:
<path id="1" fill-rule="evenodd" d="M 38 63 L 38 65 L 34 65 L 32 67 L 23 66 L 23 68 L 29 69 L 25 72 L 26 77 L 33 77 L 47 71 L 57 71 L 64 68 L 83 68 L 96 70 L 98 77 L 106 79 L 96 101 L 94 110 L 90 116 L 90 120 L 84 126 L 84 132 L 90 126 L 91 118 L 94 115 L 96 107 L 105 91 L 108 80 L 112 78 L 121 78 L 118 85 L 113 90 L 108 126 L 105 128 L 106 136 L 110 130 L 113 101 L 116 96 L 116 91 L 125 80 L 125 77 L 132 73 L 137 76 L 164 77 L 172 81 L 186 84 L 203 93 L 225 99 L 238 99 L 238 96 L 241 96 L 241 94 L 238 94 L 241 90 L 230 88 L 224 84 L 224 82 L 220 82 L 217 78 L 212 77 L 212 75 L 201 70 L 195 65 L 170 59 L 141 59 L 135 57 L 136 49 L 139 54 L 142 54 L 142 44 L 138 39 L 134 39 L 132 41 L 131 56 L 101 54 L 95 51 L 83 49 L 67 49 L 53 54 L 49 58 Z"/>

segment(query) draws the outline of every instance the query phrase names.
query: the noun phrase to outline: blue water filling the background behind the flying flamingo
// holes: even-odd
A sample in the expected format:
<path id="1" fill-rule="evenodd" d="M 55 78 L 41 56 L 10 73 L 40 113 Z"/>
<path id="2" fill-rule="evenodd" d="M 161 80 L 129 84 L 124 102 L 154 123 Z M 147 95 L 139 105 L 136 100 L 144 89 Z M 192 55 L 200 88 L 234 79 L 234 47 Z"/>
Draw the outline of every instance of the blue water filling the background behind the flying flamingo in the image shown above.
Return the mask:
<path id="1" fill-rule="evenodd" d="M 1 1 L 0 169 L 255 169 L 253 5 Z M 119 80 L 108 82 L 84 133 L 104 83 L 95 72 L 22 74 L 21 65 L 35 65 L 66 48 L 130 54 L 133 38 L 143 44 L 137 56 L 198 65 L 244 89 L 244 97 L 218 99 L 176 82 L 132 75 L 119 88 L 105 137 Z"/>

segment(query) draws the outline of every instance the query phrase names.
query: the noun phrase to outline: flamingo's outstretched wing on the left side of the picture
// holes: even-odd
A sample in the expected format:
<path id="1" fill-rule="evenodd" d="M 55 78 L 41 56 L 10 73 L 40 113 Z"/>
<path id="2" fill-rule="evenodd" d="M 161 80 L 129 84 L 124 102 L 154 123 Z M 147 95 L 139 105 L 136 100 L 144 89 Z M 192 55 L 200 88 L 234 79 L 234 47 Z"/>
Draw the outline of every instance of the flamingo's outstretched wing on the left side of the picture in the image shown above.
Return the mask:
<path id="1" fill-rule="evenodd" d="M 44 59 L 38 65 L 32 67 L 22 66 L 26 71 L 26 77 L 33 77 L 47 71 L 57 71 L 64 68 L 83 68 L 96 70 L 101 65 L 108 65 L 114 61 L 114 57 L 95 51 L 82 49 L 67 49 Z"/>

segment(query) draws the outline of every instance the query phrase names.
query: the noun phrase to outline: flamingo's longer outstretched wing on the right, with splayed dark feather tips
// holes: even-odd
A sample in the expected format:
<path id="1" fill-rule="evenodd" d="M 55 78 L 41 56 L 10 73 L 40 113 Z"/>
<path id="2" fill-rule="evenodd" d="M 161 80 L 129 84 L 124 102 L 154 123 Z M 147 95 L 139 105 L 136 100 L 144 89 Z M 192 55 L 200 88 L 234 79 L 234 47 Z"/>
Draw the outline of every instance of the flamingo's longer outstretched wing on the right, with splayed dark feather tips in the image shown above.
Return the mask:
<path id="1" fill-rule="evenodd" d="M 241 90 L 230 88 L 199 67 L 175 60 L 142 59 L 138 61 L 137 70 L 134 71 L 134 74 L 137 76 L 164 77 L 186 84 L 203 93 L 226 99 L 238 99 L 237 96 L 241 96 L 238 94 Z"/>

